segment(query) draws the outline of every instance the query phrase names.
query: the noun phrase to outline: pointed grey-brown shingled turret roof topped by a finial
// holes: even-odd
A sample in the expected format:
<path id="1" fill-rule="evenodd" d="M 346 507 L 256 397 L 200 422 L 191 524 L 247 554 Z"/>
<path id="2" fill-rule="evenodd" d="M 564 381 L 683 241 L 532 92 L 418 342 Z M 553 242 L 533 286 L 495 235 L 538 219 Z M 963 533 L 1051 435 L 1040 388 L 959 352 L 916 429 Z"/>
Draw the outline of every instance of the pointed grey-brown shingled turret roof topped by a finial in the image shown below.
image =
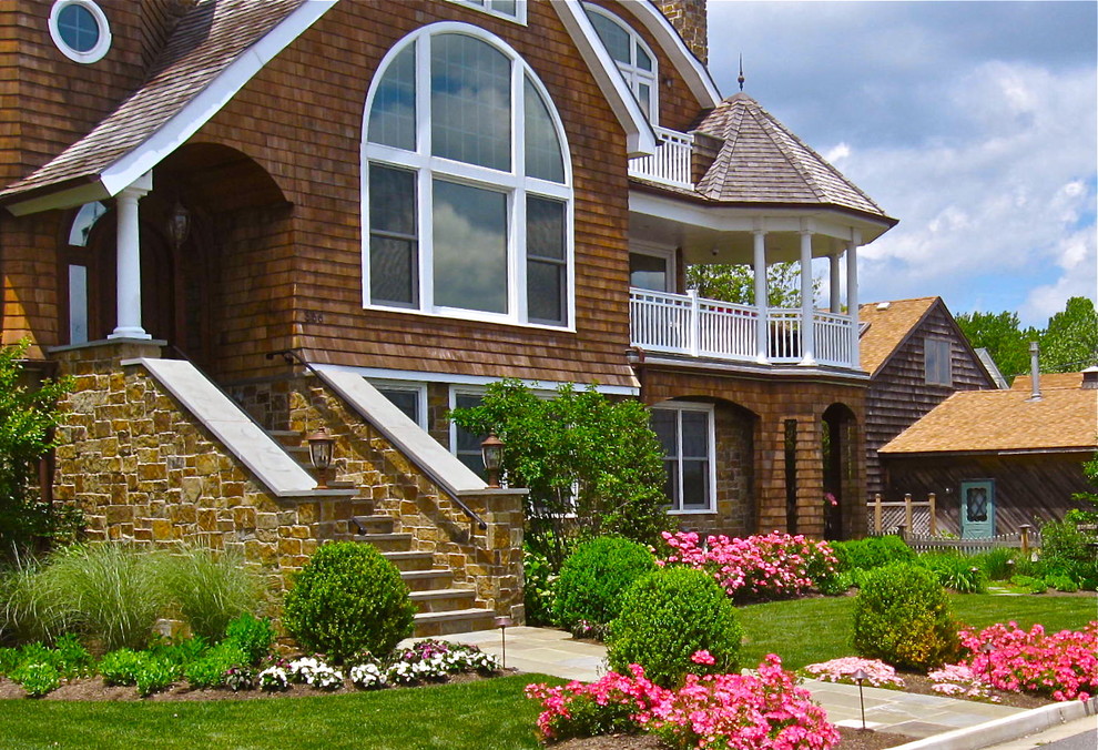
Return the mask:
<path id="1" fill-rule="evenodd" d="M 857 185 L 744 93 L 722 101 L 695 130 L 724 142 L 698 182 L 698 192 L 706 197 L 732 203 L 832 205 L 895 223 Z"/>

